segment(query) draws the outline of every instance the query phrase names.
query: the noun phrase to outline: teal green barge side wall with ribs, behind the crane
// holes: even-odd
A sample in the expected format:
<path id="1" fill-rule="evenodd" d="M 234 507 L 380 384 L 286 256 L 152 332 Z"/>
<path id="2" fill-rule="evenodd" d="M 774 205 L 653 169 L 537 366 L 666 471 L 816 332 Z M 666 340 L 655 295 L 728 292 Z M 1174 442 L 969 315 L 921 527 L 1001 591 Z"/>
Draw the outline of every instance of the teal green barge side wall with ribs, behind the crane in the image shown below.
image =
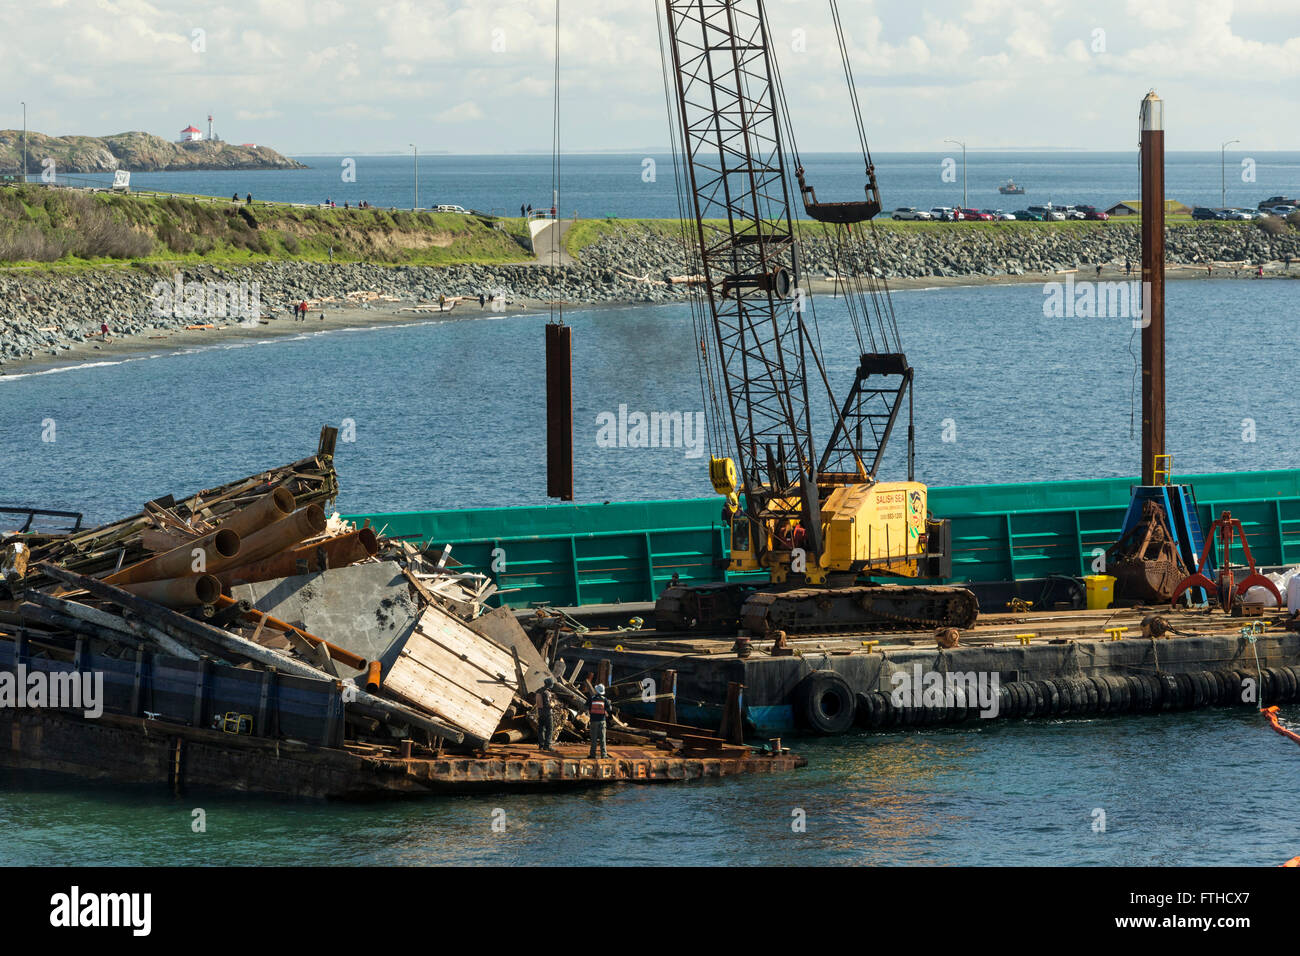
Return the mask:
<path id="1" fill-rule="evenodd" d="M 1300 563 L 1300 470 L 1187 475 L 1201 527 L 1242 519 L 1261 566 Z M 950 583 L 1080 576 L 1119 535 L 1138 479 L 931 488 L 953 523 Z M 727 558 L 722 498 L 354 514 L 382 533 L 451 544 L 467 571 L 489 574 L 515 607 L 653 601 L 676 572 L 719 579 Z M 1216 555 L 1217 558 L 1221 555 Z M 1232 561 L 1243 561 L 1234 549 Z M 757 579 L 728 575 L 729 580 Z"/>

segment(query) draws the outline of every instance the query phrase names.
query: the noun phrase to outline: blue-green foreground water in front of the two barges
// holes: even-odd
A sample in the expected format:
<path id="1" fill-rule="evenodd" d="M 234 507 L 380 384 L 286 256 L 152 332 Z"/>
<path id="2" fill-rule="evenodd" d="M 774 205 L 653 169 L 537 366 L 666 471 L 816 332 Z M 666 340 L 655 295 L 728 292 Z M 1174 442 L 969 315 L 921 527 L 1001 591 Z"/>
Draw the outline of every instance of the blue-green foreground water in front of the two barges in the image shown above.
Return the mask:
<path id="1" fill-rule="evenodd" d="M 1300 750 L 1245 710 L 794 745 L 809 766 L 790 774 L 400 803 L 10 775 L 0 864 L 1273 866 L 1300 853 Z"/>

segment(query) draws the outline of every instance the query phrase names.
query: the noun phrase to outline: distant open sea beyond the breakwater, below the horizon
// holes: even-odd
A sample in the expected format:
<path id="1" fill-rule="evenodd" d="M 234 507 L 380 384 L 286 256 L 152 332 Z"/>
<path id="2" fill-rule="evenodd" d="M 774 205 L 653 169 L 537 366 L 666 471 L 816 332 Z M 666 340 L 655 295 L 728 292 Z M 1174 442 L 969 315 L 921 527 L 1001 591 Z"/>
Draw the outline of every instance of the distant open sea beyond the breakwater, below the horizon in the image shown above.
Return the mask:
<path id="1" fill-rule="evenodd" d="M 878 152 L 876 176 L 887 215 L 900 206 L 928 209 L 962 206 L 961 152 Z M 411 156 L 295 156 L 309 169 L 133 173 L 138 190 L 240 196 L 294 203 L 333 199 L 356 206 L 411 208 L 415 163 Z M 850 153 L 805 153 L 810 185 L 823 202 L 861 199 L 862 157 Z M 1188 206 L 1219 206 L 1221 176 L 1228 206 L 1254 206 L 1269 196 L 1300 194 L 1300 152 L 1230 152 L 1221 169 L 1217 152 L 1171 152 L 1166 156 L 1166 195 Z M 944 161 L 952 160 L 945 178 Z M 1251 160 L 1249 170 L 1242 165 Z M 355 181 L 344 181 L 344 163 L 355 163 Z M 551 157 L 421 155 L 420 206 L 454 203 L 480 212 L 517 216 L 520 204 L 551 206 Z M 1253 181 L 1243 181 L 1249 174 Z M 1138 151 L 1132 152 L 971 152 L 966 153 L 966 195 L 976 208 L 1023 209 L 1031 203 L 1075 203 L 1108 208 L 1141 198 Z M 1014 178 L 1022 196 L 997 187 Z M 109 176 L 70 176 L 78 185 L 107 185 Z M 585 219 L 675 217 L 672 156 L 668 153 L 599 153 L 562 159 L 560 208 Z"/>

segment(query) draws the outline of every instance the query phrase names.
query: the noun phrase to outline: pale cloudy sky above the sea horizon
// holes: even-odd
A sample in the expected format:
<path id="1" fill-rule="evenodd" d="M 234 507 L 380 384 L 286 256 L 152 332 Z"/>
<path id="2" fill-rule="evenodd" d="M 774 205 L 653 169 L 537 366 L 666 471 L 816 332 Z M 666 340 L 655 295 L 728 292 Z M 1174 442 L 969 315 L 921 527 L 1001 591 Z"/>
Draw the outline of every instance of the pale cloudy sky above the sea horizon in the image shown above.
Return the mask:
<path id="1" fill-rule="evenodd" d="M 549 152 L 555 0 L 0 0 L 0 129 L 216 117 L 290 155 Z M 741 0 L 755 3 L 755 0 Z M 560 0 L 562 148 L 668 143 L 653 0 Z M 800 148 L 854 150 L 826 0 L 767 0 Z M 1300 148 L 1300 0 L 840 0 L 874 151 Z"/>

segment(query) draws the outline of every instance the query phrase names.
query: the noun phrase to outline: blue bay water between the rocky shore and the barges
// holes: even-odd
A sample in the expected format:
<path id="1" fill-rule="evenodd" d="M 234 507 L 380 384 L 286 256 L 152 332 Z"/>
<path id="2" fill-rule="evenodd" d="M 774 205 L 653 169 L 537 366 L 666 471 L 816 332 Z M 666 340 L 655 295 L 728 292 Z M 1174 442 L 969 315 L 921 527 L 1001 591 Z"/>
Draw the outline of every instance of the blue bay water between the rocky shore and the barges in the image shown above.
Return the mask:
<path id="1" fill-rule="evenodd" d="M 1254 280 L 1169 284 L 1176 472 L 1300 467 L 1297 289 Z M 902 291 L 893 302 L 916 369 L 919 480 L 1139 471 L 1140 338 L 1131 320 L 1045 317 L 1044 287 L 1034 284 Z M 842 393 L 857 364 L 842 302 L 818 297 L 816 315 L 828 375 Z M 0 376 L 0 503 L 109 520 L 162 494 L 307 455 L 321 424 L 344 420 L 355 431 L 337 451 L 344 511 L 546 503 L 547 315 L 462 316 Z M 601 441 L 601 416 L 620 407 L 693 421 L 708 410 L 686 306 L 575 310 L 566 319 L 577 499 L 712 494 L 702 445 Z M 824 438 L 827 405 L 814 410 Z M 904 477 L 902 434 L 883 477 Z"/>

